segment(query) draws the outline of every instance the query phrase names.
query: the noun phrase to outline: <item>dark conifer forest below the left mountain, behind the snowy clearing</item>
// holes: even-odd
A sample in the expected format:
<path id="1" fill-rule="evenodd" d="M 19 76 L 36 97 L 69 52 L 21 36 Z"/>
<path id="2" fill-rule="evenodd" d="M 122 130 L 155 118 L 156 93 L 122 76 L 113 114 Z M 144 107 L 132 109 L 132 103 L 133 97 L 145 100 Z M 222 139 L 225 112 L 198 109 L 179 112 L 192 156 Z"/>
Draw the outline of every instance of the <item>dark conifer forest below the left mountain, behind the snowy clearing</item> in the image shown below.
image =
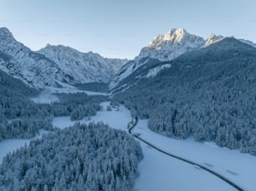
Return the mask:
<path id="1" fill-rule="evenodd" d="M 52 119 L 69 115 L 79 120 L 100 110 L 104 96 L 85 93 L 59 93 L 59 102 L 34 103 L 30 98 L 38 96 L 20 80 L 0 71 L 0 141 L 7 138 L 33 138 L 39 129 L 52 130 Z"/>

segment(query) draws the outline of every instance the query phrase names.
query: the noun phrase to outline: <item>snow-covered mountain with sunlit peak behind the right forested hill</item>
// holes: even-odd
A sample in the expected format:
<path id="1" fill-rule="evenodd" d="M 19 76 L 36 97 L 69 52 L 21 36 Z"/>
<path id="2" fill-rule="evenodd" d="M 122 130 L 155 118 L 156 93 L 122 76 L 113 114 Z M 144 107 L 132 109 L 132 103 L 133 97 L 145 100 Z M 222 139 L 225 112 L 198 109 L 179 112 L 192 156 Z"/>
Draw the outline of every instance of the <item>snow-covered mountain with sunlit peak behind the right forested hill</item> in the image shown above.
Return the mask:
<path id="1" fill-rule="evenodd" d="M 134 73 L 142 65 L 148 63 L 151 58 L 158 59 L 159 61 L 165 62 L 170 61 L 174 58 L 179 57 L 183 53 L 190 52 L 192 50 L 197 50 L 199 48 L 205 48 L 213 43 L 218 43 L 224 37 L 221 35 L 211 34 L 207 39 L 199 37 L 194 34 L 187 33 L 183 28 L 172 28 L 165 35 L 157 35 L 153 38 L 149 45 L 141 49 L 141 53 L 131 62 L 125 64 L 124 67 L 120 68 L 119 73 L 115 75 L 115 78 L 110 82 L 110 89 L 117 88 L 118 86 L 125 87 L 126 85 L 121 83 L 125 78 L 128 78 L 131 73 Z M 239 39 L 242 43 L 247 43 L 253 47 L 256 47 L 255 43 L 247 40 Z M 161 69 L 169 68 L 170 66 L 165 65 L 156 66 L 156 68 L 151 68 L 151 71 L 146 74 L 146 77 L 151 76 L 151 74 L 156 75 Z M 141 78 L 139 75 L 136 78 Z"/>

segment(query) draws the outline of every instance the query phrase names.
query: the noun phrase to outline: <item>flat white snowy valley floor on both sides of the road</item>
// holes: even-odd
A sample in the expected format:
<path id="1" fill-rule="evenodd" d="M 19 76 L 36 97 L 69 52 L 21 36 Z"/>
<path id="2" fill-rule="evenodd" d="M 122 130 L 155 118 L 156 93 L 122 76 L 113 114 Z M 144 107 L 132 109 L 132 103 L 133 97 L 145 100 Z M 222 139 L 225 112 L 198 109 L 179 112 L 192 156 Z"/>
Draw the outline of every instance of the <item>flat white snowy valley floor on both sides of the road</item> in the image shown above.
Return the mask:
<path id="1" fill-rule="evenodd" d="M 108 123 L 111 128 L 127 131 L 127 124 L 131 121 L 131 113 L 124 106 L 107 111 L 109 103 L 101 103 L 102 111 L 91 118 L 84 118 L 79 123 L 92 121 Z M 66 128 L 73 125 L 69 117 L 54 118 L 54 126 Z M 147 128 L 146 120 L 139 120 L 134 133 L 140 133 L 141 138 L 153 143 L 157 147 L 183 158 L 212 168 L 223 174 L 234 183 L 241 185 L 248 191 L 256 188 L 256 157 L 239 153 L 228 148 L 219 148 L 214 143 L 196 143 L 192 139 L 177 140 L 166 138 L 151 132 Z M 29 140 L 6 140 L 0 142 L 0 163 L 3 156 Z M 13 145 L 13 146 L 12 146 Z M 141 143 L 144 159 L 139 164 L 141 175 L 136 180 L 136 189 L 139 191 L 229 191 L 236 190 L 221 179 L 200 168 L 166 156 L 154 148 Z"/>

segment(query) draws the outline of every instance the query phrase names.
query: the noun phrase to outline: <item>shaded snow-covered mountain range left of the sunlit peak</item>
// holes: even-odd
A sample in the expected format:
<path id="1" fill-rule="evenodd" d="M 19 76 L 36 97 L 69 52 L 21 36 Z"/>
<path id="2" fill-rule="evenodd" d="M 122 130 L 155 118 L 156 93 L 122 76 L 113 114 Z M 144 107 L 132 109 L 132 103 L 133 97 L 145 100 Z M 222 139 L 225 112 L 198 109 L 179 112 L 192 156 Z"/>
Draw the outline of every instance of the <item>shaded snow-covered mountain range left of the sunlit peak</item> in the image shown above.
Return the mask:
<path id="1" fill-rule="evenodd" d="M 79 83 L 108 83 L 127 60 L 79 53 L 64 46 L 47 46 L 33 52 L 19 43 L 8 28 L 0 28 L 0 69 L 35 87 L 70 87 Z"/>

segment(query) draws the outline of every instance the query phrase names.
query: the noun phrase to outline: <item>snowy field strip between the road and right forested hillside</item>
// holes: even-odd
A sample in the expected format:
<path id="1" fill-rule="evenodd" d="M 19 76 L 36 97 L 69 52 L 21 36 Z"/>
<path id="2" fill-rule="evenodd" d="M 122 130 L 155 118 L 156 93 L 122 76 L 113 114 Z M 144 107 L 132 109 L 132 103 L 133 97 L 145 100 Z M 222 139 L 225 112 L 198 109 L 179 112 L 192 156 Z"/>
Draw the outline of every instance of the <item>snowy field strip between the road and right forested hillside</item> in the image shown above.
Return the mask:
<path id="1" fill-rule="evenodd" d="M 168 153 L 187 158 L 221 173 L 225 178 L 248 191 L 256 190 L 256 157 L 250 154 L 220 148 L 215 143 L 197 143 L 192 138 L 187 140 L 167 138 L 147 128 L 147 120 L 139 120 L 134 133 L 140 133 L 141 138 Z"/>

